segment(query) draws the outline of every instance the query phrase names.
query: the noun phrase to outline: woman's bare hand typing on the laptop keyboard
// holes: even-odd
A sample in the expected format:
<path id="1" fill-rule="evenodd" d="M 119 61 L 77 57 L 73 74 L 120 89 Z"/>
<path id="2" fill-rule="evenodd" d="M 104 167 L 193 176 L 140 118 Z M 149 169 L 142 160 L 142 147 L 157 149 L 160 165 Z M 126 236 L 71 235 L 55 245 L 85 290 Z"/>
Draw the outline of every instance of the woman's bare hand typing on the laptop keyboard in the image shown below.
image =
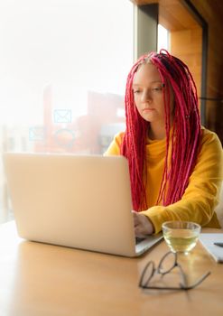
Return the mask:
<path id="1" fill-rule="evenodd" d="M 144 238 L 146 235 L 152 235 L 154 232 L 153 224 L 144 214 L 132 211 L 134 216 L 135 236 Z"/>

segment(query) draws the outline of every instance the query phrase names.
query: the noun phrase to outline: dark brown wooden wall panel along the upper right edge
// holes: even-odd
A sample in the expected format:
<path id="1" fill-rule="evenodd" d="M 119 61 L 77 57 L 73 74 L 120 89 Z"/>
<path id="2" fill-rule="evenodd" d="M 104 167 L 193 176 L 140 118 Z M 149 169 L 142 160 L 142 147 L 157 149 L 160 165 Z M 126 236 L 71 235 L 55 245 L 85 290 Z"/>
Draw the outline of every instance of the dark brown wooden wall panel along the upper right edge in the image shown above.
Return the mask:
<path id="1" fill-rule="evenodd" d="M 191 0 L 209 25 L 207 96 L 223 99 L 223 1 Z M 207 127 L 223 144 L 223 102 L 207 102 Z"/>

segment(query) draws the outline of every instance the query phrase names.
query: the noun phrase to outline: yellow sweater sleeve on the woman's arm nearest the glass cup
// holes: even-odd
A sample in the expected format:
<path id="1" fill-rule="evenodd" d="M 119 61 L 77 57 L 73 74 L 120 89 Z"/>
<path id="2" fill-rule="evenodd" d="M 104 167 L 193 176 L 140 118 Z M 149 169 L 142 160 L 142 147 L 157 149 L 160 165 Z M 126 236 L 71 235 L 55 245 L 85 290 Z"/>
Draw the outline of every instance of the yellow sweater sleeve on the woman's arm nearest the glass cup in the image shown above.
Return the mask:
<path id="1" fill-rule="evenodd" d="M 222 146 L 215 133 L 203 130 L 198 161 L 190 175 L 189 185 L 181 200 L 167 207 L 153 206 L 144 210 L 153 223 L 154 233 L 168 220 L 186 220 L 206 226 L 214 216 L 223 174 Z"/>

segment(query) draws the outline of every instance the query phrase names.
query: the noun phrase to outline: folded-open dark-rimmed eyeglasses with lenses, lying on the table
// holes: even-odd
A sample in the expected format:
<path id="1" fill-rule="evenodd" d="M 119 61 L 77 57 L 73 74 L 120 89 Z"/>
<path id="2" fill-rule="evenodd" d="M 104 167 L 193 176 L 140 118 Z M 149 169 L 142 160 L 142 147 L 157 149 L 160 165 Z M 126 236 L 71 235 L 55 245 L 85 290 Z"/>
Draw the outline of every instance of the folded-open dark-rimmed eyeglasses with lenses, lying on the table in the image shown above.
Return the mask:
<path id="1" fill-rule="evenodd" d="M 179 269 L 181 275 L 181 283 L 179 283 L 178 286 L 156 286 L 150 284 L 154 274 L 161 274 L 163 278 L 165 274 L 169 274 L 175 267 Z M 151 290 L 190 290 L 200 285 L 200 283 L 202 283 L 209 274 L 210 272 L 203 274 L 195 283 L 188 285 L 187 276 L 182 270 L 181 265 L 177 262 L 177 253 L 172 253 L 170 251 L 161 258 L 157 268 L 155 267 L 153 261 L 149 261 L 147 265 L 145 265 L 140 277 L 139 286 L 143 289 Z"/>

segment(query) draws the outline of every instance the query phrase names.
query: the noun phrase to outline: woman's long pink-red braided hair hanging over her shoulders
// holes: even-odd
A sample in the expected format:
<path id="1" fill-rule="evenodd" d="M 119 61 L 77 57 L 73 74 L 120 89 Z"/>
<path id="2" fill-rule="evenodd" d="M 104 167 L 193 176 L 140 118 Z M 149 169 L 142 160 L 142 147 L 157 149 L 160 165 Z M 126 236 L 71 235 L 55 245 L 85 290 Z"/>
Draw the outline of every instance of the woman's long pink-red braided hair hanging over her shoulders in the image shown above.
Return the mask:
<path id="1" fill-rule="evenodd" d="M 139 58 L 130 70 L 125 88 L 126 129 L 121 145 L 129 163 L 133 207 L 147 209 L 145 144 L 149 122 L 145 121 L 135 107 L 133 80 L 136 71 L 145 63 L 152 63 L 163 82 L 163 105 L 165 111 L 166 156 L 163 179 L 156 201 L 167 206 L 181 199 L 200 151 L 200 113 L 195 82 L 190 70 L 181 60 L 168 51 L 151 52 Z M 170 86 L 174 96 L 174 116 L 170 118 Z M 172 133 L 170 133 L 172 128 Z"/>

